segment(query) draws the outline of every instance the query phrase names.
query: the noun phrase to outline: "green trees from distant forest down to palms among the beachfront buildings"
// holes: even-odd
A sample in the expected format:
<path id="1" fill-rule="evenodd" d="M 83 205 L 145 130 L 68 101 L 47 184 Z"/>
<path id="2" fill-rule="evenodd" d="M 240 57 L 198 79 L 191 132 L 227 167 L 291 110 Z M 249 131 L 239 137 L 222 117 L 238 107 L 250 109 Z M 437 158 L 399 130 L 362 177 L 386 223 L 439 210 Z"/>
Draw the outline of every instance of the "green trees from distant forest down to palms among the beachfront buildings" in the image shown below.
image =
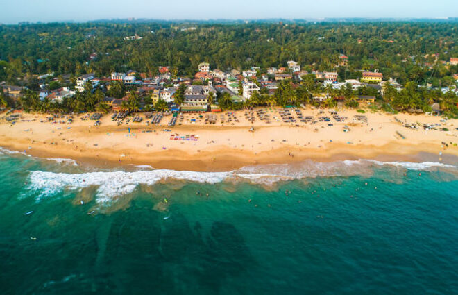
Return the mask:
<path id="1" fill-rule="evenodd" d="M 196 30 L 180 30 L 188 25 L 196 26 Z M 28 87 L 18 101 L 1 94 L 0 105 L 47 112 L 105 111 L 109 109 L 103 103 L 105 96 L 121 99 L 129 90 L 135 90 L 117 81 L 109 85 L 101 83 L 95 92 L 92 85 L 86 85 L 84 92 L 60 103 L 40 101 L 36 95 L 40 90 L 36 77 L 41 74 L 53 73 L 53 77 L 58 77 L 56 81 L 41 79 L 51 91 L 59 87 L 74 89 L 76 77 L 90 72 L 103 77 L 112 71 L 134 69 L 155 76 L 159 66 L 169 66 L 173 77 L 194 76 L 198 63 L 205 60 L 212 69 L 244 70 L 258 66 L 261 68 L 258 74 L 265 74 L 268 67 L 285 67 L 288 60 L 296 60 L 309 72 L 337 71 L 339 81 L 360 78 L 361 70 L 379 69 L 384 80 L 396 78 L 405 87 L 398 92 L 387 85 L 383 95 L 373 87 L 353 90 L 349 84 L 334 90 L 330 85 L 323 87 L 314 75 L 306 74 L 302 81 L 282 81 L 273 95 L 262 89 L 244 103 L 234 102 L 230 94 L 212 96 L 210 101 L 226 110 L 307 103 L 318 106 L 320 103 L 313 97 L 324 93 L 327 99 L 321 106 L 332 108 L 339 99 L 350 108 L 358 108 L 357 96 L 375 96 L 377 103 L 372 108 L 427 112 L 431 111 L 432 103 L 439 103 L 446 115 L 455 117 L 458 99 L 453 92 L 443 94 L 439 89 L 418 85 L 455 85 L 452 75 L 458 73 L 458 65 L 446 65 L 442 61 L 458 57 L 456 28 L 453 22 L 0 25 L 0 81 Z M 142 39 L 124 39 L 135 34 Z M 341 53 L 348 56 L 348 66 L 338 66 Z M 184 88 L 178 88 L 174 96 L 178 105 L 183 103 L 183 94 Z M 151 108 L 151 104 L 149 97 L 139 99 L 131 95 L 123 108 L 139 110 L 144 105 L 144 109 Z M 167 103 L 157 101 L 155 108 L 167 108 Z"/>

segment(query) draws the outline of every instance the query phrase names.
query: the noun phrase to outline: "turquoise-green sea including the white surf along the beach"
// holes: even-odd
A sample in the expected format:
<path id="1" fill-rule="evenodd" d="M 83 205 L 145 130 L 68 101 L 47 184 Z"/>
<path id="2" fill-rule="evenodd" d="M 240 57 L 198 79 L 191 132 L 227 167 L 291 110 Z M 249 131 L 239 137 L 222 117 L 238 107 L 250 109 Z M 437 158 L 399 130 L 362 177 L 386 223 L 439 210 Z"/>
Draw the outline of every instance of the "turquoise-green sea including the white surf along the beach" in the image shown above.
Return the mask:
<path id="1" fill-rule="evenodd" d="M 0 294 L 458 294 L 454 165 L 124 170 L 2 150 Z"/>

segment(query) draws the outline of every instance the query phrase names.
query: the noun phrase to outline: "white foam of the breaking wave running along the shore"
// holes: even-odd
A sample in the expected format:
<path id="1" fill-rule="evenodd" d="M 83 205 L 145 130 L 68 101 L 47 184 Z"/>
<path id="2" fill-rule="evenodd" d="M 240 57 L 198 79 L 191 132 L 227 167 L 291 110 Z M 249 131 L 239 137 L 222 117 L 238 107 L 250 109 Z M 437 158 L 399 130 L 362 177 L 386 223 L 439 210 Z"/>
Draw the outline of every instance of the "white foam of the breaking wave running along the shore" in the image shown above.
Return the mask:
<path id="1" fill-rule="evenodd" d="M 160 180 L 187 180 L 196 183 L 221 183 L 224 180 L 242 180 L 257 184 L 330 176 L 369 175 L 373 166 L 402 167 L 410 170 L 431 170 L 457 167 L 439 162 L 380 162 L 376 160 L 345 160 L 336 162 L 306 161 L 288 165 L 257 165 L 227 172 L 174 171 L 167 169 L 126 171 L 98 171 L 83 174 L 65 174 L 31 171 L 29 189 L 38 192 L 38 199 L 62 192 L 96 187 L 96 201 L 105 203 L 116 196 L 130 194 L 138 185 L 154 185 Z"/>

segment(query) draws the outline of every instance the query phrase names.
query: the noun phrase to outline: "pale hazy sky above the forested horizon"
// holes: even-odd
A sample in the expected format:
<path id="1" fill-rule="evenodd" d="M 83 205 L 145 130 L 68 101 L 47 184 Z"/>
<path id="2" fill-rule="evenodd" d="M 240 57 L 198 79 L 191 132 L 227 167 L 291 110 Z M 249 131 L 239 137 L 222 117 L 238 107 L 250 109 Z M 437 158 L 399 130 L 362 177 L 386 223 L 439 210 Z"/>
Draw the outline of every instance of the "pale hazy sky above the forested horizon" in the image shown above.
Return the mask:
<path id="1" fill-rule="evenodd" d="M 3 2 L 3 3 L 1 3 Z M 207 3 L 205 3 L 207 2 Z M 94 19 L 265 19 L 458 17 L 457 0 L 15 0 L 0 1 L 0 23 Z"/>

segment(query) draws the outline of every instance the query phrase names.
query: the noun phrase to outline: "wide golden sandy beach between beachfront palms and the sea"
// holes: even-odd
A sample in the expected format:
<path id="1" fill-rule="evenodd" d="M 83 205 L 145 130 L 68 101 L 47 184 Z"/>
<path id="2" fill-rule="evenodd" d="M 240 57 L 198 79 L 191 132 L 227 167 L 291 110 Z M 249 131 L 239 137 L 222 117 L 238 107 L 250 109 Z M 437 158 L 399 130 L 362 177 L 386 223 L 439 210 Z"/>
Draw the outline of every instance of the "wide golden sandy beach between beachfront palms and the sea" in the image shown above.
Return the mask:
<path id="1" fill-rule="evenodd" d="M 261 120 L 256 110 L 265 110 L 270 122 Z M 443 121 L 430 115 L 390 115 L 370 110 L 362 114 L 341 109 L 337 114 L 346 119 L 336 121 L 330 110 L 307 108 L 300 109 L 303 116 L 313 117 L 316 123 L 301 122 L 294 110 L 290 110 L 291 117 L 297 121 L 285 123 L 278 108 L 256 110 L 254 122 L 248 121 L 251 114 L 247 116 L 246 111 L 213 114 L 217 118 L 215 124 L 205 124 L 205 114 L 185 114 L 181 124 L 174 127 L 167 126 L 171 115 L 164 116 L 158 125 L 146 124 L 151 119 L 128 124 L 124 120 L 117 125 L 108 114 L 101 118 L 100 126 L 94 126 L 94 121 L 80 119 L 83 115 L 74 115 L 74 122 L 68 124 L 68 117 L 47 121 L 50 115 L 24 113 L 16 124 L 10 124 L 3 114 L 0 146 L 97 167 L 150 165 L 192 171 L 227 171 L 245 165 L 308 159 L 418 162 L 421 153 L 434 155 L 431 160 L 435 161 L 458 155 L 455 119 Z M 366 116 L 367 121 L 357 120 L 355 115 Z M 418 129 L 407 128 L 404 122 L 417 124 Z M 423 124 L 437 124 L 436 130 L 425 130 Z"/>

